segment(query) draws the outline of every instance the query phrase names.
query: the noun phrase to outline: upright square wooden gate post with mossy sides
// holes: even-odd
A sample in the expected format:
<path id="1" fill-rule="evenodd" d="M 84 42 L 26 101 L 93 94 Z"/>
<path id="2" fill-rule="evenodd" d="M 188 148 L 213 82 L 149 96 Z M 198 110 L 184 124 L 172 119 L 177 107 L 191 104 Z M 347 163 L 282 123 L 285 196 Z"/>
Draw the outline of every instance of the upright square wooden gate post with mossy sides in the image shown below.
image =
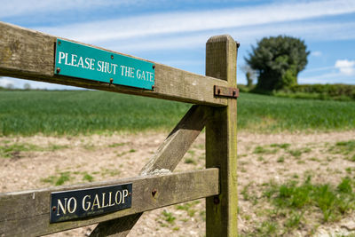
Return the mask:
<path id="1" fill-rule="evenodd" d="M 206 75 L 236 88 L 237 44 L 231 36 L 206 43 Z M 227 107 L 210 107 L 206 125 L 206 168 L 219 168 L 220 194 L 206 198 L 206 236 L 238 235 L 237 99 Z"/>

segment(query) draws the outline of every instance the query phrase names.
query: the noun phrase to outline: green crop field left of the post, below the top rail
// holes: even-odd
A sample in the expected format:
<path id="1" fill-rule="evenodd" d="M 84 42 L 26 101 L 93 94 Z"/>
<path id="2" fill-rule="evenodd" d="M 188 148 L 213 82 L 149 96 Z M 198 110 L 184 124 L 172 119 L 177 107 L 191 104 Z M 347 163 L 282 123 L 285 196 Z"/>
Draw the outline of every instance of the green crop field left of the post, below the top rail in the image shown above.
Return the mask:
<path id="1" fill-rule="evenodd" d="M 0 136 L 168 130 L 189 107 L 104 91 L 0 91 Z"/>

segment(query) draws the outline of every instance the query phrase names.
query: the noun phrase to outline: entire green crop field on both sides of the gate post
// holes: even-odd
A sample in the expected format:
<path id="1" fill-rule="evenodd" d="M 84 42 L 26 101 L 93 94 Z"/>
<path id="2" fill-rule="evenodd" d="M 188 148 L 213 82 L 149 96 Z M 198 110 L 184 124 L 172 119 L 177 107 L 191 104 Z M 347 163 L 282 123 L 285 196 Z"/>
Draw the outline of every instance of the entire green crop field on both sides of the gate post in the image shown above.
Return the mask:
<path id="1" fill-rule="evenodd" d="M 189 107 L 103 91 L 0 91 L 0 136 L 170 130 Z M 238 127 L 256 132 L 352 130 L 355 102 L 241 93 Z"/>

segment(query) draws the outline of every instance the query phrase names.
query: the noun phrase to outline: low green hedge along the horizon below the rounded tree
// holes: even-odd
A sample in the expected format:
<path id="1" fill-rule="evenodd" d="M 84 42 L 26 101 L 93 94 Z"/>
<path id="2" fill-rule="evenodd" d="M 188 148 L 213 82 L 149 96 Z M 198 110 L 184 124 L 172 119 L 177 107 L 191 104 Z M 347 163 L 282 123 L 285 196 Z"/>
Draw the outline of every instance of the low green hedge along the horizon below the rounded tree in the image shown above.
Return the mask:
<path id="1" fill-rule="evenodd" d="M 238 85 L 241 91 L 299 99 L 355 100 L 355 85 L 351 84 L 297 84 L 280 91 L 261 91 L 255 87 Z"/>

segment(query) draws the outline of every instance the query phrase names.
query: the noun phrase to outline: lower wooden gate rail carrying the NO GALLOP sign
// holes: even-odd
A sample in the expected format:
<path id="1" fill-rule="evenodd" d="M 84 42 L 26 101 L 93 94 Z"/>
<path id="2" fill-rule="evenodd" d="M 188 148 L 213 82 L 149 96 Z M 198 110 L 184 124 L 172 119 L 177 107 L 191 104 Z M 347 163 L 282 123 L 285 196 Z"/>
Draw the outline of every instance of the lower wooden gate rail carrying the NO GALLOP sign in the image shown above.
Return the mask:
<path id="1" fill-rule="evenodd" d="M 50 224 L 51 192 L 133 184 L 132 207 L 98 217 Z M 152 191 L 156 194 L 152 195 Z M 37 236 L 130 216 L 150 209 L 218 194 L 218 169 L 62 186 L 0 194 L 0 236 Z"/>

